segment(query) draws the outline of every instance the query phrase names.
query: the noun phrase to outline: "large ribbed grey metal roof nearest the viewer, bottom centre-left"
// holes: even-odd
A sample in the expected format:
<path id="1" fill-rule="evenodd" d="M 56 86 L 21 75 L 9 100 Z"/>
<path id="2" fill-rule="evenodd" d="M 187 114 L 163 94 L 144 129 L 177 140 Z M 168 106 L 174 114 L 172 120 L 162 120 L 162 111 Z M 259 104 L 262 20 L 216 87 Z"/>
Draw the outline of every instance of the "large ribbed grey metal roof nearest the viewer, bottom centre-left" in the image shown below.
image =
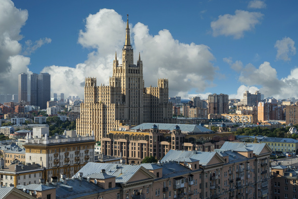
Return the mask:
<path id="1" fill-rule="evenodd" d="M 83 177 L 86 178 L 91 174 L 101 173 L 101 170 L 105 169 L 108 175 L 116 177 L 116 183 L 126 183 L 141 167 L 141 165 L 117 165 L 110 163 L 88 162 L 73 176 L 73 178 L 77 178 L 78 173 L 83 173 Z"/>

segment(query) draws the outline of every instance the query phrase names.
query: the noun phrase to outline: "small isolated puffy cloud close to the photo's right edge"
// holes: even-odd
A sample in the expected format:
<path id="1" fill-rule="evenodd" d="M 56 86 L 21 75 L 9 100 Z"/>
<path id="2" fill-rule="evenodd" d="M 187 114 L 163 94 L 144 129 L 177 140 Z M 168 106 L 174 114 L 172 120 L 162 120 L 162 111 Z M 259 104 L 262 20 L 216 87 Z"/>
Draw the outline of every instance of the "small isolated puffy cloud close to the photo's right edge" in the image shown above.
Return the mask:
<path id="1" fill-rule="evenodd" d="M 290 61 L 289 56 L 296 54 L 295 42 L 290 37 L 277 40 L 274 47 L 277 49 L 276 60 Z"/>

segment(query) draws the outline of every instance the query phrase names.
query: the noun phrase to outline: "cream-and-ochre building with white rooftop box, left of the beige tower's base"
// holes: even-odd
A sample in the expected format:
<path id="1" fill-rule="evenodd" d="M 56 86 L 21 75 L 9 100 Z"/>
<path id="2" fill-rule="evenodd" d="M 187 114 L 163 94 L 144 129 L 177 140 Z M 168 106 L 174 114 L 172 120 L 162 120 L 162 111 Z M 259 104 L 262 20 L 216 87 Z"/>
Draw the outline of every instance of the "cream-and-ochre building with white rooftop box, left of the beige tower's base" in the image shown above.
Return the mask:
<path id="1" fill-rule="evenodd" d="M 26 163 L 43 165 L 44 180 L 65 174 L 72 177 L 87 162 L 94 161 L 93 135 L 79 136 L 76 131 L 48 137 L 48 127 L 33 128 L 33 136 L 26 137 Z"/>

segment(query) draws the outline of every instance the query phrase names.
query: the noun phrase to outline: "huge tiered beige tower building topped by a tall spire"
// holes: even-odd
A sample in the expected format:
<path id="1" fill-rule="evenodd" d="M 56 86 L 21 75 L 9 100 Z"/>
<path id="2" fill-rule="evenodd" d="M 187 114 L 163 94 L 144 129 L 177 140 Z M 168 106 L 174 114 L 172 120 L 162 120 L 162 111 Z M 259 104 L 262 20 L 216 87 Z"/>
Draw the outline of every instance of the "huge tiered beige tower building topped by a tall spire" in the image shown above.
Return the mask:
<path id="1" fill-rule="evenodd" d="M 88 77 L 84 90 L 81 117 L 77 119 L 77 133 L 80 135 L 93 131 L 96 140 L 100 140 L 111 130 L 118 130 L 121 123 L 167 123 L 172 119 L 168 79 L 159 79 L 158 87 L 144 87 L 140 55 L 133 64 L 128 18 L 122 64 L 119 64 L 116 54 L 110 85 L 96 86 L 96 78 Z"/>

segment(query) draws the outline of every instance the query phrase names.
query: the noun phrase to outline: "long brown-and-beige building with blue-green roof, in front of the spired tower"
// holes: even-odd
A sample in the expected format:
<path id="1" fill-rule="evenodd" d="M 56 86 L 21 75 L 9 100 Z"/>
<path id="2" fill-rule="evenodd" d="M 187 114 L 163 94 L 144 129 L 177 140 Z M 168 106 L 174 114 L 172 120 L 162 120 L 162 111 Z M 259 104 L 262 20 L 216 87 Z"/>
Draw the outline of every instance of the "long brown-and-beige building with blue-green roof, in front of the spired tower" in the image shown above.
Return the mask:
<path id="1" fill-rule="evenodd" d="M 111 131 L 102 138 L 101 150 L 129 164 L 140 164 L 147 156 L 162 159 L 170 150 L 211 152 L 234 139 L 232 133 L 214 133 L 201 125 L 143 123 L 131 131 Z"/>

